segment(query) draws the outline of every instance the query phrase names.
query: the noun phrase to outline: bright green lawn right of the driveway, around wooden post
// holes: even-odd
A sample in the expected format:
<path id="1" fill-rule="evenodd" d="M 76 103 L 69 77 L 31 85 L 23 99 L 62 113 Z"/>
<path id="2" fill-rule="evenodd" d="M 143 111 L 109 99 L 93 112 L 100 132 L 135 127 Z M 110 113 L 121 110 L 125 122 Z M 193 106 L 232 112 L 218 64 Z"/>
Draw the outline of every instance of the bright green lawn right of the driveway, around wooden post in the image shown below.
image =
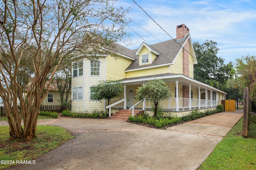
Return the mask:
<path id="1" fill-rule="evenodd" d="M 250 123 L 248 138 L 244 138 L 242 123 L 241 118 L 198 170 L 256 169 L 256 124 Z"/>

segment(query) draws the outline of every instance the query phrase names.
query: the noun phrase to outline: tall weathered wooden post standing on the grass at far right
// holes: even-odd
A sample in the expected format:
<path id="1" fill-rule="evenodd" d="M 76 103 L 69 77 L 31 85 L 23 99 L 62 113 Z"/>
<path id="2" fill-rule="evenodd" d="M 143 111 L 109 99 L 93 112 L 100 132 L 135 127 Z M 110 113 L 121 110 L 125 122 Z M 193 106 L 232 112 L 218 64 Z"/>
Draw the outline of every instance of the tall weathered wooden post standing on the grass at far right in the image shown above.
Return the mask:
<path id="1" fill-rule="evenodd" d="M 249 111 L 250 111 L 249 88 L 244 88 L 244 115 L 243 115 L 243 137 L 247 137 L 249 128 Z"/>

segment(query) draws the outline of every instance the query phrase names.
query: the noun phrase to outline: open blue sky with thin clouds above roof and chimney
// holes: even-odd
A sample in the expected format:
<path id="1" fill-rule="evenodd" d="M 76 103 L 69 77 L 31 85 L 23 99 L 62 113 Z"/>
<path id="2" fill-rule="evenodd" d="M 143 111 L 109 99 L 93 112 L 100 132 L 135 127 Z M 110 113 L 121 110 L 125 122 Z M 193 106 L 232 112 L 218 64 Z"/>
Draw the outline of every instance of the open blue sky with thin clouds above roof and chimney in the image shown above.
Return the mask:
<path id="1" fill-rule="evenodd" d="M 256 55 L 256 1 L 255 0 L 135 0 L 172 38 L 176 26 L 184 23 L 190 29 L 193 42 L 216 41 L 218 57 L 225 63 L 236 63 L 242 55 Z M 118 0 L 115 5 L 128 8 L 132 0 Z M 136 49 L 143 41 L 154 44 L 171 39 L 136 4 L 127 15 L 128 24 L 142 38 L 130 31 Z M 138 25 L 136 25 L 136 22 Z M 146 29 L 146 31 L 144 30 Z M 148 32 L 149 33 L 148 33 Z M 156 39 L 154 35 L 158 39 Z"/>

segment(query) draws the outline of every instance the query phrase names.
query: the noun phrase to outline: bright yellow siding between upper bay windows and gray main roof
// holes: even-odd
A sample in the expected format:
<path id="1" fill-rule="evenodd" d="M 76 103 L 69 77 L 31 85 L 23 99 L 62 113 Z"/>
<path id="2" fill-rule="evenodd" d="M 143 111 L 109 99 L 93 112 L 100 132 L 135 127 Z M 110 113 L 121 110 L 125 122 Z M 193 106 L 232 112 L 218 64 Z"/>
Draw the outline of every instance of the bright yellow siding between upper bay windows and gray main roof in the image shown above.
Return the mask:
<path id="1" fill-rule="evenodd" d="M 106 69 L 106 78 L 109 80 L 121 80 L 126 78 L 126 73 L 124 70 L 132 63 L 132 60 L 126 59 L 124 57 L 114 57 L 108 56 L 107 60 L 107 69 Z"/>

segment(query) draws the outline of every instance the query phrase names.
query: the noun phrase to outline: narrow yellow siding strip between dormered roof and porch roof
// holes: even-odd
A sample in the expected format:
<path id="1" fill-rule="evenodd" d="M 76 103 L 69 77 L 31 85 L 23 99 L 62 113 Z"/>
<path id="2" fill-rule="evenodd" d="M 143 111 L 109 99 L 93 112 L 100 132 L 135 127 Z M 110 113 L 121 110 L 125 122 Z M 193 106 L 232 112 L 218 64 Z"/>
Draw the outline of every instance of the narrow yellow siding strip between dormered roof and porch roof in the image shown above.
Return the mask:
<path id="1" fill-rule="evenodd" d="M 140 76 L 149 76 L 149 75 L 163 74 L 168 72 L 169 72 L 169 66 L 162 66 L 157 68 L 127 72 L 126 77 L 132 78 L 132 77 L 140 77 Z"/>

